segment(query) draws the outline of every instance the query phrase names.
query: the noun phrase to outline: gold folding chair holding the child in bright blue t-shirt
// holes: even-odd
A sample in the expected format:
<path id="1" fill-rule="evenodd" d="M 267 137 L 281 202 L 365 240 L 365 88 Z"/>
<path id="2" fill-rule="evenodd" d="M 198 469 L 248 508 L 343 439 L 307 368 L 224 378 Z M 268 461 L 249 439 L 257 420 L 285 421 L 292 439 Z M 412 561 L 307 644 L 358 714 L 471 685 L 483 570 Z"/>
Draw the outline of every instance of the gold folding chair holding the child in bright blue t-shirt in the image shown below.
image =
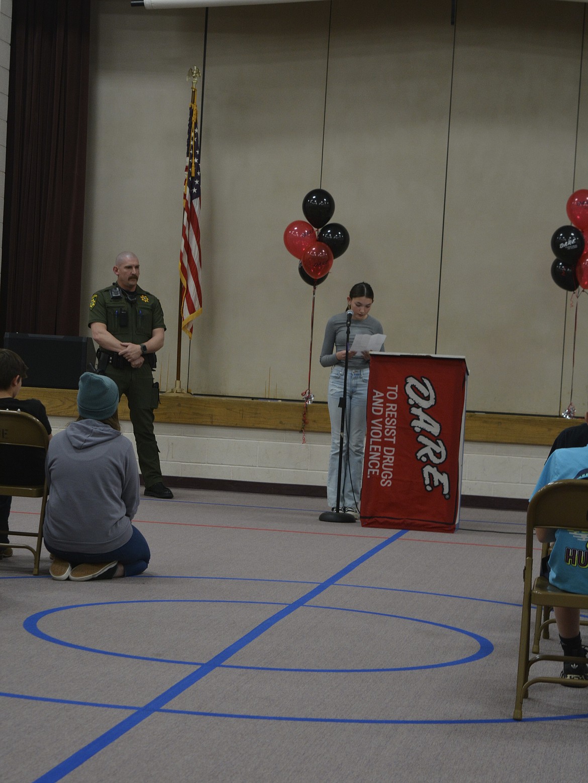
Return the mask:
<path id="1" fill-rule="evenodd" d="M 568 530 L 588 531 L 588 481 L 584 479 L 566 479 L 553 482 L 540 489 L 532 497 L 527 511 L 527 535 L 524 559 L 524 594 L 521 612 L 521 641 L 519 644 L 517 669 L 517 696 L 514 705 L 514 720 L 523 716 L 523 698 L 535 683 L 554 683 L 572 687 L 586 687 L 588 681 L 562 680 L 560 677 L 534 677 L 529 679 L 529 670 L 539 661 L 565 661 L 586 663 L 585 658 L 569 655 L 532 655 L 529 657 L 532 605 L 538 610 L 546 607 L 566 606 L 588 609 L 588 595 L 566 593 L 550 585 L 549 580 L 538 576 L 533 583 L 533 547 L 535 528 L 564 528 Z M 539 612 L 538 612 L 539 614 Z M 539 615 L 540 616 L 540 615 Z M 545 622 L 543 623 L 545 625 Z M 540 631 L 539 631 L 540 633 Z M 539 633 L 535 630 L 535 640 L 539 642 Z"/>

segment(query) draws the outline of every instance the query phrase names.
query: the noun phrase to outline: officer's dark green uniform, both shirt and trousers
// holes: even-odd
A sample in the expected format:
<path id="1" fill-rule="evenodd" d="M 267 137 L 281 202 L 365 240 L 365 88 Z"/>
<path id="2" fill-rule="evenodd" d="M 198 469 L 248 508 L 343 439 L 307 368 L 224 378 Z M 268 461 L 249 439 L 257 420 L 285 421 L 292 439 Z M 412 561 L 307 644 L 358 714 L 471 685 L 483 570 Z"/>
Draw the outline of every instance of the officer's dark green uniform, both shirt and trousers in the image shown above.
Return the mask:
<path id="1" fill-rule="evenodd" d="M 139 286 L 133 291 L 135 301 L 129 301 L 125 294 L 112 298 L 111 291 L 118 288 L 113 283 L 93 294 L 90 300 L 88 326 L 93 323 L 106 324 L 107 330 L 121 342 L 135 345 L 147 342 L 154 329 L 165 329 L 162 305 L 157 297 Z M 108 364 L 105 370 L 118 386 L 118 393 L 126 395 L 132 431 L 135 435 L 137 456 L 146 487 L 162 481 L 159 450 L 154 435 L 154 408 L 158 406 L 158 387 L 153 382 L 151 366 L 147 362 L 137 369 L 130 364 L 114 367 Z"/>

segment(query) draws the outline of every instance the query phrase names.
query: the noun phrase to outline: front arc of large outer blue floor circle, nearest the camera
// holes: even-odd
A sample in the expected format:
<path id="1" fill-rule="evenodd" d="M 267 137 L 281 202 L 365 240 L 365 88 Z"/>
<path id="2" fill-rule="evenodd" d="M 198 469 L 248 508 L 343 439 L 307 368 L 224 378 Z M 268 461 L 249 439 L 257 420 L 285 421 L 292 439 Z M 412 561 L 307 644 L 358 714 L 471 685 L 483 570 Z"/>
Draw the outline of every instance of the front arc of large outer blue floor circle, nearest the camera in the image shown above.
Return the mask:
<path id="1" fill-rule="evenodd" d="M 46 702 L 48 704 L 63 704 L 79 707 L 94 707 L 97 709 L 118 709 L 129 712 L 131 710 L 142 709 L 137 705 L 128 704 L 104 704 L 102 702 L 82 702 L 76 699 L 55 698 L 49 696 L 31 696 L 28 694 L 9 693 L 0 691 L 0 698 L 16 698 L 27 702 Z M 522 720 L 513 718 L 318 718 L 304 716 L 288 715 L 248 715 L 247 713 L 212 713 L 197 709 L 162 709 L 154 710 L 150 714 L 165 715 L 184 715 L 205 718 L 227 718 L 232 720 L 276 720 L 282 723 L 358 723 L 358 724 L 383 724 L 394 726 L 437 726 L 437 725 L 477 725 L 479 723 L 514 723 L 520 726 L 521 723 L 550 723 L 554 720 L 586 720 L 588 713 L 578 713 L 570 715 L 539 715 L 528 717 L 524 716 Z M 39 778 L 40 779 L 40 778 Z"/>

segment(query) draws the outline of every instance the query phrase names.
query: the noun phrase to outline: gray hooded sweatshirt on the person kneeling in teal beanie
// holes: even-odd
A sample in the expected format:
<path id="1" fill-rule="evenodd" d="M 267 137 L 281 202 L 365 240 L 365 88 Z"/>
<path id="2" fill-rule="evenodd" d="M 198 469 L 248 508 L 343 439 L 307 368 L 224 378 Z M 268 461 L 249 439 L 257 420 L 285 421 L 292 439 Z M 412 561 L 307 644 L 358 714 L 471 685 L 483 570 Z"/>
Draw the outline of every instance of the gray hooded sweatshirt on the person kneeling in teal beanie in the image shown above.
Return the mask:
<path id="1" fill-rule="evenodd" d="M 121 432 L 93 419 L 72 422 L 49 442 L 45 473 L 49 550 L 100 554 L 127 543 L 139 507 L 139 471 Z"/>

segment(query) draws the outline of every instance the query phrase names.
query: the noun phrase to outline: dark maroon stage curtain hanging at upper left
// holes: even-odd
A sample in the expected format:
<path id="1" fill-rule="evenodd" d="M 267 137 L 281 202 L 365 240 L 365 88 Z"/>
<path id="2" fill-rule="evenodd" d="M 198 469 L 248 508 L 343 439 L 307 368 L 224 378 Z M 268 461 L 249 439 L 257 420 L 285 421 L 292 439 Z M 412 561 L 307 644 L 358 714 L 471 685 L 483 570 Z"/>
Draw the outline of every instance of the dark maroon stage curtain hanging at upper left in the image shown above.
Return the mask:
<path id="1" fill-rule="evenodd" d="M 13 3 L 0 339 L 79 334 L 89 0 Z"/>

